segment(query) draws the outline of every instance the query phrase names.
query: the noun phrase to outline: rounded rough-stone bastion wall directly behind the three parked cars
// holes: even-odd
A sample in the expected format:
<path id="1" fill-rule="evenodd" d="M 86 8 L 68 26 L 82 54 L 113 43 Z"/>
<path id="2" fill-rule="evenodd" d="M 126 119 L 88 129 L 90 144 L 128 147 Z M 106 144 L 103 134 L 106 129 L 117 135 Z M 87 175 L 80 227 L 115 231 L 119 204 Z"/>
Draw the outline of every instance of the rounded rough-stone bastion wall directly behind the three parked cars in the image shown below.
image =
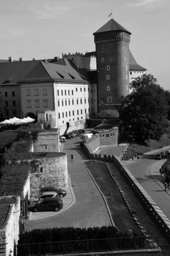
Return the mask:
<path id="1" fill-rule="evenodd" d="M 30 174 L 31 194 L 39 192 L 42 186 L 56 186 L 65 189 L 68 186 L 67 155 L 59 153 L 57 157 L 35 159 L 37 172 Z M 40 172 L 42 167 L 43 172 Z"/>

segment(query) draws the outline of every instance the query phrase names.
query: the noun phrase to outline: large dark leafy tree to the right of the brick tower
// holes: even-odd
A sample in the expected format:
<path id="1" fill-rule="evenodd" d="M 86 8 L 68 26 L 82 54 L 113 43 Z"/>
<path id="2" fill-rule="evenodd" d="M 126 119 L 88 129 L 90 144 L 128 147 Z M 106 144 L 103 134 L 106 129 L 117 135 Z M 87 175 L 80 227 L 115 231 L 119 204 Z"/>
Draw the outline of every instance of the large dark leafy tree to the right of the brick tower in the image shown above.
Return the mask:
<path id="1" fill-rule="evenodd" d="M 132 81 L 132 93 L 122 99 L 121 118 L 125 125 L 132 125 L 141 140 L 150 136 L 151 140 L 159 140 L 166 132 L 168 97 L 157 79 L 151 74 L 142 75 Z"/>

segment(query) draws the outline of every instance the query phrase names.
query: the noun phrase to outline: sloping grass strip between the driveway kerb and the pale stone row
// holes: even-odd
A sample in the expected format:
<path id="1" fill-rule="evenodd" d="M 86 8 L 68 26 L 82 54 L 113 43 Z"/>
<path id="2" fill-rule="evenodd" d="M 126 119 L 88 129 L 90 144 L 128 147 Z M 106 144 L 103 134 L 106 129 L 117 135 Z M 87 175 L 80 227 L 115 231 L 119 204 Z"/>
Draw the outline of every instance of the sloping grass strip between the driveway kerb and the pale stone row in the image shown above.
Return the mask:
<path id="1" fill-rule="evenodd" d="M 132 231 L 140 233 L 139 227 L 136 225 L 132 216 L 127 211 L 127 207 L 122 199 L 121 193 L 112 180 L 105 163 L 90 161 L 89 164 L 88 161 L 85 162 L 85 164 L 103 195 L 105 195 L 105 199 L 108 203 L 113 222 L 116 225 L 117 230 L 122 233 L 130 233 Z M 97 172 L 99 173 L 99 177 L 97 177 Z M 110 188 L 111 196 L 109 195 Z"/>

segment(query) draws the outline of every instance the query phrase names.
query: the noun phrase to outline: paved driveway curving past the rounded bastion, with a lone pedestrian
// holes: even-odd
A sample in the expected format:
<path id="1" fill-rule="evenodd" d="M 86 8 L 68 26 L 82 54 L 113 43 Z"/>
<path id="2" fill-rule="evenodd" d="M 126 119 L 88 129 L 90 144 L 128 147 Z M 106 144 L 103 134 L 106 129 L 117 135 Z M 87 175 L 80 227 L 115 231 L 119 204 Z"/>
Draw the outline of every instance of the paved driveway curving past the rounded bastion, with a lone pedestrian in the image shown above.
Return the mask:
<path id="1" fill-rule="evenodd" d="M 111 220 L 105 202 L 96 188 L 83 162 L 87 158 L 79 146 L 79 135 L 66 140 L 63 152 L 68 155 L 68 172 L 75 201 L 64 211 L 59 211 L 45 218 L 26 220 L 25 230 L 54 227 L 101 227 L 111 225 Z M 70 155 L 74 154 L 74 163 Z"/>

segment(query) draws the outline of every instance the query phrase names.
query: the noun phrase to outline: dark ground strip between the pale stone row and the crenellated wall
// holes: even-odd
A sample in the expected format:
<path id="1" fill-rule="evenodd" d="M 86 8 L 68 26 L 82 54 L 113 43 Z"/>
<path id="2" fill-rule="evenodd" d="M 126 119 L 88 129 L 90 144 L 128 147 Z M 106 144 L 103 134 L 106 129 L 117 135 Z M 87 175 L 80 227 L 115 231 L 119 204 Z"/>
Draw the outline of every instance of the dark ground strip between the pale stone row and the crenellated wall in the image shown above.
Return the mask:
<path id="1" fill-rule="evenodd" d="M 108 163 L 108 166 L 110 167 L 112 171 L 112 175 L 114 175 L 114 178 L 119 182 L 119 184 L 122 186 L 122 190 L 127 198 L 128 204 L 131 208 L 131 210 L 134 212 L 135 218 L 138 220 L 138 222 L 143 227 L 142 230 L 146 231 L 146 235 L 149 236 L 159 236 L 159 246 L 161 247 L 161 256 L 169 256 L 170 255 L 170 244 L 164 239 L 162 234 L 159 232 L 153 221 L 149 218 L 147 213 L 144 211 L 143 207 L 139 203 L 139 201 L 136 199 L 135 195 L 125 182 L 122 175 L 120 175 L 119 171 L 116 169 L 116 166 L 114 166 L 112 163 Z"/>

